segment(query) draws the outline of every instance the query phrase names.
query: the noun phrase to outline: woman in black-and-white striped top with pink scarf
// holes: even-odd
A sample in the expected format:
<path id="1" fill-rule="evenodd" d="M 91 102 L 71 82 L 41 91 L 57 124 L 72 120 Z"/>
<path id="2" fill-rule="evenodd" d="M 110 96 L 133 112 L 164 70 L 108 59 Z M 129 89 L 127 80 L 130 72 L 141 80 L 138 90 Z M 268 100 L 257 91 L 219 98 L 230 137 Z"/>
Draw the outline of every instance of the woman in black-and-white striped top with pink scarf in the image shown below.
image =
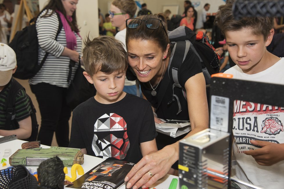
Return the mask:
<path id="1" fill-rule="evenodd" d="M 42 119 L 38 140 L 48 146 L 54 131 L 58 146 L 69 145 L 68 122 L 72 110 L 66 104 L 66 91 L 79 66 L 82 47 L 76 21 L 77 3 L 78 0 L 50 0 L 36 21 L 39 63 L 46 52 L 49 54 L 29 84 Z"/>

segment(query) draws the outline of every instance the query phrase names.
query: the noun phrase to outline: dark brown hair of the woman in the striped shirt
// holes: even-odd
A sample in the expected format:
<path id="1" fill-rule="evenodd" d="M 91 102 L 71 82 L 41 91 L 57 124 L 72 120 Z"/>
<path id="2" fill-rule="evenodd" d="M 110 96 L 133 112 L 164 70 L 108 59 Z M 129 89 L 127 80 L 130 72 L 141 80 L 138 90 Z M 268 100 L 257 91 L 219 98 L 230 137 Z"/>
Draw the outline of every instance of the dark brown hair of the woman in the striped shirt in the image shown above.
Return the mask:
<path id="1" fill-rule="evenodd" d="M 67 17 L 66 17 L 66 11 L 63 7 L 62 1 L 61 0 L 50 0 L 48 4 L 43 8 L 44 10 L 52 10 L 51 14 L 58 10 L 59 12 L 62 12 L 62 14 L 65 16 L 68 24 L 70 25 L 72 31 L 79 32 L 78 25 L 77 25 L 77 20 L 76 20 L 76 10 L 73 12 L 72 15 L 72 22 L 70 22 Z M 41 14 L 40 12 L 39 14 Z M 48 11 L 42 16 L 42 17 L 48 17 L 51 16 L 51 14 L 48 14 Z"/>

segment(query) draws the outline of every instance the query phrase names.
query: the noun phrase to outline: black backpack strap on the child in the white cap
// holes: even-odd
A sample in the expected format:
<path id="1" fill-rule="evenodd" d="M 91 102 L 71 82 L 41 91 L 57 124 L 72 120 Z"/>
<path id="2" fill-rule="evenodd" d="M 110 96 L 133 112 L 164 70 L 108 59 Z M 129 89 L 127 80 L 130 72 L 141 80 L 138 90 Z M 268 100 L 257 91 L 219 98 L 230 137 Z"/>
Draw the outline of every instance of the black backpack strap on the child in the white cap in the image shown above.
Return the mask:
<path id="1" fill-rule="evenodd" d="M 16 96 L 19 93 L 21 89 L 24 89 L 24 87 L 19 84 L 15 79 L 12 78 L 11 88 L 8 92 L 8 96 L 6 99 L 5 109 L 6 109 L 6 123 L 5 123 L 5 129 L 10 129 L 11 121 L 15 119 L 15 102 L 16 102 Z"/>

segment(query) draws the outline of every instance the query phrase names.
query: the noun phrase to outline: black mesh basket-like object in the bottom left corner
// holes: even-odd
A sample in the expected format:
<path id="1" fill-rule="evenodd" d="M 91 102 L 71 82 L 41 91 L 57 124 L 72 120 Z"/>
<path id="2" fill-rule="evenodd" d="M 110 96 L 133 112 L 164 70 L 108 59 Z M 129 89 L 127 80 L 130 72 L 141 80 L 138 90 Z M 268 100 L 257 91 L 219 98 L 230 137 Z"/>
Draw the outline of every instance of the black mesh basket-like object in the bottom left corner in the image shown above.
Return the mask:
<path id="1" fill-rule="evenodd" d="M 37 189 L 37 179 L 23 165 L 0 170 L 1 189 Z"/>

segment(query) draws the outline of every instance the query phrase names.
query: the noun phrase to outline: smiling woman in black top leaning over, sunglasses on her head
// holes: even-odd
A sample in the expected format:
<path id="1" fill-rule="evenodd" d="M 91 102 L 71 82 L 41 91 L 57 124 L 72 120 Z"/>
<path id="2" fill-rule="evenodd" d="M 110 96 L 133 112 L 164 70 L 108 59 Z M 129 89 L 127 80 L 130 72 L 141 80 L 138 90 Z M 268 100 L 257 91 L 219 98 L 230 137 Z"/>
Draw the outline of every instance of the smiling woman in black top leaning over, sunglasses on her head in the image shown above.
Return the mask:
<path id="1" fill-rule="evenodd" d="M 158 118 L 190 119 L 192 131 L 186 135 L 189 136 L 208 127 L 205 79 L 199 59 L 189 51 L 178 73 L 179 83 L 186 90 L 186 99 L 181 89 L 175 89 L 182 109 L 176 114 L 179 104 L 172 96 L 172 83 L 167 74 L 171 47 L 166 30 L 163 14 L 144 15 L 127 21 L 126 46 L 131 67 L 127 76 L 135 76 L 140 81 L 143 96 L 152 104 L 154 115 L 157 115 L 156 123 L 163 123 Z M 177 169 L 178 140 L 183 137 L 185 135 L 172 138 L 159 133 L 156 138 L 159 151 L 143 157 L 128 173 L 125 177 L 127 188 L 149 187 L 169 170 L 172 171 L 172 165 Z"/>

